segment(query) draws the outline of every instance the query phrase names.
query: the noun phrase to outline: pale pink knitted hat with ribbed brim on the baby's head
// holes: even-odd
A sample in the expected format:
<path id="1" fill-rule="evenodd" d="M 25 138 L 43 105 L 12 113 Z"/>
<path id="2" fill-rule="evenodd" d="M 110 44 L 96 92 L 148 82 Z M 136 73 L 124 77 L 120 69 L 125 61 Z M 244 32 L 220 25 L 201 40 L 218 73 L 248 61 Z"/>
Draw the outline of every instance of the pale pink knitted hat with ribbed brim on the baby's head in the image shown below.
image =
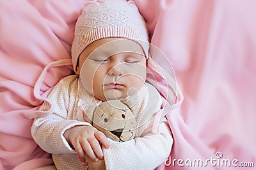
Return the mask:
<path id="1" fill-rule="evenodd" d="M 133 40 L 148 55 L 147 26 L 133 1 L 94 0 L 86 3 L 77 19 L 72 43 L 74 70 L 79 55 L 90 43 L 111 37 Z"/>

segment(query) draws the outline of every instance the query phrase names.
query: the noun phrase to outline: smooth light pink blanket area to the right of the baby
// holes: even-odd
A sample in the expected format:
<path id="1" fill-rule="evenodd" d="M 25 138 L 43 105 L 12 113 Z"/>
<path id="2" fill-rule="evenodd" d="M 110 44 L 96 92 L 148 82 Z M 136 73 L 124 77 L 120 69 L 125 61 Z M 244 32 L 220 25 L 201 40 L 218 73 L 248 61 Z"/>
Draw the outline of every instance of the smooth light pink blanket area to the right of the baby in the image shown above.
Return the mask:
<path id="1" fill-rule="evenodd" d="M 137 4 L 145 18 L 154 18 L 156 14 L 143 3 L 149 5 L 143 0 Z M 151 3 L 156 6 L 156 1 Z M 172 63 L 184 94 L 181 107 L 168 117 L 174 138 L 172 159 L 237 159 L 238 166 L 243 162 L 256 166 L 255 5 L 255 1 L 159 1 L 152 43 Z M 216 157 L 218 152 L 221 158 Z M 176 162 L 163 168 L 199 167 Z"/>

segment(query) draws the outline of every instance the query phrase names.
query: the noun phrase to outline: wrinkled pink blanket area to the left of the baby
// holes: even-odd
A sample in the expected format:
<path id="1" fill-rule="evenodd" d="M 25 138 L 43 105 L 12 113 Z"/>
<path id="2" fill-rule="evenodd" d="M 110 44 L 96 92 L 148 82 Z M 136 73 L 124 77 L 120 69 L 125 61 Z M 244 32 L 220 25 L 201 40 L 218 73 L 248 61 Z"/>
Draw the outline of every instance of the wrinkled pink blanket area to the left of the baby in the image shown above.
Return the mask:
<path id="1" fill-rule="evenodd" d="M 0 169 L 33 169 L 52 164 L 33 141 L 33 120 L 24 116 L 42 101 L 33 86 L 45 65 L 70 58 L 74 24 L 84 1 L 0 2 Z M 46 96 L 71 67 L 53 68 L 41 88 Z M 30 165 L 30 166 L 29 166 Z"/>

